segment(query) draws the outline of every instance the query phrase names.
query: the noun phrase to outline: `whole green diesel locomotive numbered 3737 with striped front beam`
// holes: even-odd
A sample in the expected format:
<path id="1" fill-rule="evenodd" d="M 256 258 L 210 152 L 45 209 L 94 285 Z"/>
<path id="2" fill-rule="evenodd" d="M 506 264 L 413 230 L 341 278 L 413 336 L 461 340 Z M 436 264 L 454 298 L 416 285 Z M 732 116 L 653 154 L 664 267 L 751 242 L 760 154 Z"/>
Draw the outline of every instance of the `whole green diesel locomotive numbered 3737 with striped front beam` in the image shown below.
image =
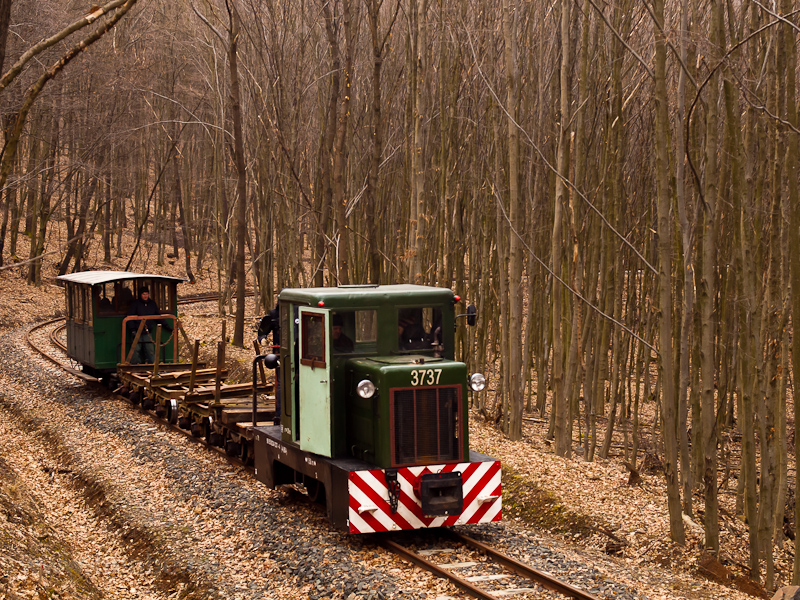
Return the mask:
<path id="1" fill-rule="evenodd" d="M 469 389 L 455 360 L 449 289 L 284 289 L 279 426 L 254 428 L 256 477 L 300 482 L 351 533 L 483 523 L 501 516 L 500 463 L 469 449 Z"/>

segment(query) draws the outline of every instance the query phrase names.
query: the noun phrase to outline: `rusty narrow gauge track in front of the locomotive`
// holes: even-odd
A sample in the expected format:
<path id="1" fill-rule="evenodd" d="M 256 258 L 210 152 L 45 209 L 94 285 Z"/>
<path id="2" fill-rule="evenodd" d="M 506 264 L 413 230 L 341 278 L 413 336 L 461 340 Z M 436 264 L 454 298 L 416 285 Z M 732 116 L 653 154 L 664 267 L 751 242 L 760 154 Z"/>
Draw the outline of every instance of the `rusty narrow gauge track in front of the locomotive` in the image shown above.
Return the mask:
<path id="1" fill-rule="evenodd" d="M 498 573 L 497 571 L 499 571 L 501 568 L 506 572 L 514 573 L 517 576 L 517 580 L 522 578 L 528 581 L 533 581 L 539 586 L 562 594 L 567 598 L 574 598 L 575 600 L 598 600 L 598 598 L 593 594 L 556 579 L 549 573 L 545 573 L 544 571 L 540 571 L 539 569 L 536 569 L 530 565 L 526 565 L 476 539 L 449 529 L 441 529 L 436 531 L 437 533 L 441 533 L 443 536 L 449 537 L 454 544 L 460 544 L 474 553 L 487 557 L 489 561 L 491 561 L 488 563 L 489 566 L 483 566 L 481 568 L 481 571 L 483 572 L 482 574 L 462 577 L 456 574 L 455 571 L 467 569 L 472 570 L 475 567 L 480 567 L 481 562 L 476 560 L 449 564 L 437 564 L 432 560 L 431 557 L 440 554 L 453 554 L 455 553 L 455 549 L 452 547 L 444 549 L 436 548 L 432 550 L 415 552 L 395 541 L 396 536 L 391 534 L 386 534 L 379 538 L 379 544 L 386 550 L 397 554 L 404 560 L 417 565 L 433 575 L 449 580 L 451 583 L 453 583 L 453 585 L 466 592 L 473 598 L 478 598 L 479 600 L 497 600 L 500 597 L 508 597 L 517 594 L 540 594 L 540 592 L 538 592 L 536 589 L 528 587 L 496 588 L 494 590 L 487 590 L 476 585 L 478 583 L 491 585 L 492 582 L 495 582 L 494 584 L 497 585 L 496 582 L 501 582 L 504 579 L 511 579 L 514 577 L 513 575 L 508 575 L 507 573 Z M 490 570 L 491 572 L 487 572 L 487 570 Z"/>

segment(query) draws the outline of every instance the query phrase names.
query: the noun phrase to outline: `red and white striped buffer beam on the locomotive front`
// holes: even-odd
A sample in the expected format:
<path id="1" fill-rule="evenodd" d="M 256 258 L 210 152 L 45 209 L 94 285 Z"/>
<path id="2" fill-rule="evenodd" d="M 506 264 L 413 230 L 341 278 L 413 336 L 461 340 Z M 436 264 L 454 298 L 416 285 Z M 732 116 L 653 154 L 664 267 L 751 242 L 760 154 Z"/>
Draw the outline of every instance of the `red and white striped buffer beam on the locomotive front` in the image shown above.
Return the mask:
<path id="1" fill-rule="evenodd" d="M 459 471 L 464 504 L 461 513 L 426 517 L 414 483 L 424 472 Z M 500 461 L 402 467 L 397 469 L 399 495 L 392 510 L 389 484 L 383 469 L 351 471 L 348 481 L 350 533 L 377 533 L 404 529 L 427 529 L 499 521 L 502 516 Z"/>

